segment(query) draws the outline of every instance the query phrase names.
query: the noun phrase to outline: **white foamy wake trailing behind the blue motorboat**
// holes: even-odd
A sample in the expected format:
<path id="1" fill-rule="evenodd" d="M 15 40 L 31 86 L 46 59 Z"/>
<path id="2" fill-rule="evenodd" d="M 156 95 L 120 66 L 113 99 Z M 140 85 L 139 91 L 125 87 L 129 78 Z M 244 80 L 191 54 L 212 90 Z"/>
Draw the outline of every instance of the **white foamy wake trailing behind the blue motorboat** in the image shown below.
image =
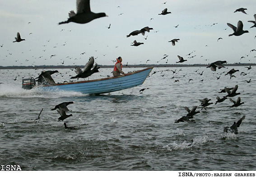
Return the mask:
<path id="1" fill-rule="evenodd" d="M 38 88 L 31 90 L 22 89 L 20 86 L 9 84 L 0 85 L 0 98 L 60 98 L 60 97 L 83 97 L 83 94 L 76 91 L 40 91 Z"/>

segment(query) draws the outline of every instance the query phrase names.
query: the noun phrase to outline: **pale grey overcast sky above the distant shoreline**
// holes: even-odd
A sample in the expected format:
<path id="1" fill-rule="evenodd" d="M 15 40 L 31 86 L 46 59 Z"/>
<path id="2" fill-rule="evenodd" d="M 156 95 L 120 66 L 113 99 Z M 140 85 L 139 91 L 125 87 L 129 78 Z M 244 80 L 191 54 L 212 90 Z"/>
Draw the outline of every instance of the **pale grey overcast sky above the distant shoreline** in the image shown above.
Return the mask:
<path id="1" fill-rule="evenodd" d="M 58 25 L 76 12 L 75 0 L 0 0 L 0 66 L 85 65 L 91 56 L 99 65 L 119 56 L 128 65 L 176 64 L 177 55 L 187 59 L 183 64 L 256 63 L 256 27 L 247 22 L 255 20 L 255 0 L 91 0 L 90 6 L 108 17 Z M 165 8 L 171 14 L 158 15 Z M 239 8 L 247 14 L 234 13 Z M 227 23 L 239 20 L 249 33 L 228 37 Z M 126 37 L 147 26 L 153 30 L 144 36 Z M 17 32 L 25 41 L 13 42 Z M 172 39 L 180 40 L 172 46 Z M 144 44 L 131 46 L 134 40 Z"/>

